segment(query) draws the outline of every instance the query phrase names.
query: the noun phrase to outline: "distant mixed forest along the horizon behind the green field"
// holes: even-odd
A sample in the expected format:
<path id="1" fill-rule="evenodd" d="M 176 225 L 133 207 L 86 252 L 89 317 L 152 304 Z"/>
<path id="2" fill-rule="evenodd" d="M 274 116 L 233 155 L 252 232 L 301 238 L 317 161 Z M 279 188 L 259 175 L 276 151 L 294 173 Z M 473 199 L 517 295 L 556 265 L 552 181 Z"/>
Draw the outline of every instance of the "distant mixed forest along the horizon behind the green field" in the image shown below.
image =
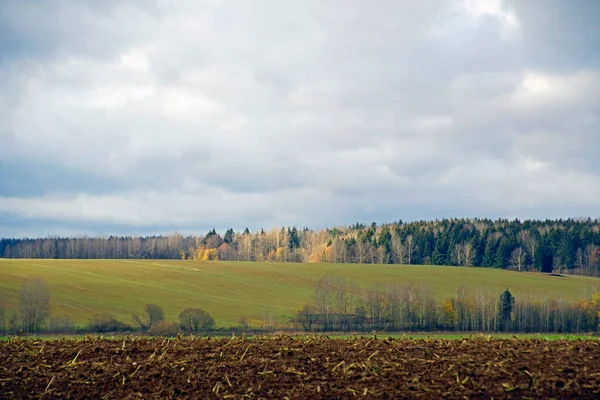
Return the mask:
<path id="1" fill-rule="evenodd" d="M 442 219 L 205 235 L 2 239 L 5 258 L 201 259 L 483 266 L 599 276 L 597 219 Z"/>

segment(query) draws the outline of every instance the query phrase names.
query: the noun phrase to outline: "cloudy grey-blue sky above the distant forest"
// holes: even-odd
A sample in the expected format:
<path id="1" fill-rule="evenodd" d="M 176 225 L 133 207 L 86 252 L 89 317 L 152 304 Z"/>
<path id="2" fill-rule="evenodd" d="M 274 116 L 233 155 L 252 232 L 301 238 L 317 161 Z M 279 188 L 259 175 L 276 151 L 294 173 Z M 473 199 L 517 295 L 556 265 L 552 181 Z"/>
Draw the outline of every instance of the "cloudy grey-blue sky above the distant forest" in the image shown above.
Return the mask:
<path id="1" fill-rule="evenodd" d="M 0 237 L 600 217 L 599 17 L 0 1 Z"/>

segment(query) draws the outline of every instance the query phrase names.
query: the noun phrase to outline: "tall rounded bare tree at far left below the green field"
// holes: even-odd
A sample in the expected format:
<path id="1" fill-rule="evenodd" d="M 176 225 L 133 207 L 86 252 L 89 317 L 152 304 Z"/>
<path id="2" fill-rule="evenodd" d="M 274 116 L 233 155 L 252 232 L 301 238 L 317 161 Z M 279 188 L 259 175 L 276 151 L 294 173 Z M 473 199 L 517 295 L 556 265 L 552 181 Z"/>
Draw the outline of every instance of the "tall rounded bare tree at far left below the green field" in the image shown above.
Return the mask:
<path id="1" fill-rule="evenodd" d="M 39 331 L 50 315 L 50 293 L 46 281 L 31 278 L 23 283 L 19 295 L 19 311 L 23 330 Z"/>

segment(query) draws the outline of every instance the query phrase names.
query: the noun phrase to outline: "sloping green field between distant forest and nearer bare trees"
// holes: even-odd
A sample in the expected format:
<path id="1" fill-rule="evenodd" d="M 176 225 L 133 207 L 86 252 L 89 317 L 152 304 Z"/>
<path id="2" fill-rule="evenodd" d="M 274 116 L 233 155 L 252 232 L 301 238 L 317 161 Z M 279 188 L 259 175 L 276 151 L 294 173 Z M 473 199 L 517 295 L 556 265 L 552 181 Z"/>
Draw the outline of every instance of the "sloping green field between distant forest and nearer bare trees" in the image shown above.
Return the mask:
<path id="1" fill-rule="evenodd" d="M 175 320 L 186 307 L 200 307 L 218 326 L 237 325 L 244 316 L 252 326 L 286 323 L 311 301 L 323 275 L 342 276 L 368 288 L 376 283 L 413 283 L 431 288 L 441 301 L 459 285 L 519 298 L 562 298 L 573 302 L 600 289 L 600 279 L 445 266 L 280 264 L 172 260 L 15 260 L 0 259 L 0 307 L 17 308 L 20 285 L 43 278 L 51 294 L 52 314 L 84 325 L 96 312 L 131 323 L 146 303 L 161 305 Z"/>

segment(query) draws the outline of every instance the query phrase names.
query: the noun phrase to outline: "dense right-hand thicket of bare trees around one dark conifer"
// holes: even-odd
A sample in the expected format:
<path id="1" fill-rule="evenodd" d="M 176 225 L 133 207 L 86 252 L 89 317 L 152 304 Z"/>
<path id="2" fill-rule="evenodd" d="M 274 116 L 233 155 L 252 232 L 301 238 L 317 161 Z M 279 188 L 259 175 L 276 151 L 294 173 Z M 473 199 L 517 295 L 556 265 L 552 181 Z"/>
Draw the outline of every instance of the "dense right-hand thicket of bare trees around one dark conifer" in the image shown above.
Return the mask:
<path id="1" fill-rule="evenodd" d="M 438 303 L 431 290 L 412 284 L 362 290 L 343 278 L 325 276 L 314 288 L 312 303 L 290 322 L 306 332 L 597 332 L 600 292 L 569 304 L 515 299 L 508 288 L 498 295 L 459 287 L 456 296 Z"/>

